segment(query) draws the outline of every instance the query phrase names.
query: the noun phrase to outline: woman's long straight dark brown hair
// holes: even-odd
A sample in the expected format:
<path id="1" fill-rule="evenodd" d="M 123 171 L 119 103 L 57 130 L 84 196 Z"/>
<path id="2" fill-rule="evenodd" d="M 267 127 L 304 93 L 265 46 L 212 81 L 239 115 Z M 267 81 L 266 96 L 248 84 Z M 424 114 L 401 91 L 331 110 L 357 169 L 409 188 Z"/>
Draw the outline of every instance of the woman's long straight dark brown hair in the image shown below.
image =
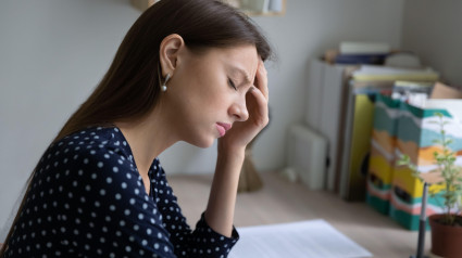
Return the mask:
<path id="1" fill-rule="evenodd" d="M 90 126 L 139 119 L 157 105 L 160 94 L 160 43 L 171 34 L 191 51 L 255 46 L 264 61 L 271 47 L 252 21 L 218 0 L 161 0 L 145 11 L 122 41 L 115 57 L 91 95 L 68 118 L 53 142 Z M 32 172 L 27 184 L 34 177 Z M 25 196 L 0 250 L 4 254 Z"/>

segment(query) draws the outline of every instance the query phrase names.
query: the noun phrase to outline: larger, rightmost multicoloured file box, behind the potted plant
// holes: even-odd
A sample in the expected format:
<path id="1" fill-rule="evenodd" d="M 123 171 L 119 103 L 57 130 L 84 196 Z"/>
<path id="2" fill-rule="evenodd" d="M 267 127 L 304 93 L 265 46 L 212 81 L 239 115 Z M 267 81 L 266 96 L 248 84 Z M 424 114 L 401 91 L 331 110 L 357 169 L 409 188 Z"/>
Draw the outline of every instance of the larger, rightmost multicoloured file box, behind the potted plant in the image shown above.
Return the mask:
<path id="1" fill-rule="evenodd" d="M 396 153 L 397 156 L 409 155 L 412 164 L 421 172 L 429 172 L 437 168 L 433 155 L 435 151 L 441 151 L 441 147 L 434 143 L 434 140 L 440 139 L 440 127 L 435 124 L 439 120 L 439 117 L 435 115 L 437 112 L 441 113 L 444 120 L 449 122 L 445 126 L 445 130 L 447 136 L 454 140 L 450 149 L 457 153 L 457 163 L 460 165 L 460 160 L 462 160 L 462 137 L 460 137 L 462 127 L 458 119 L 446 109 L 419 108 L 407 103 L 400 104 Z M 404 228 L 417 230 L 423 183 L 412 175 L 408 167 L 395 166 L 391 184 L 389 216 Z M 444 185 L 430 185 L 428 191 L 435 193 L 435 196 L 427 201 L 427 216 L 441 212 Z"/>

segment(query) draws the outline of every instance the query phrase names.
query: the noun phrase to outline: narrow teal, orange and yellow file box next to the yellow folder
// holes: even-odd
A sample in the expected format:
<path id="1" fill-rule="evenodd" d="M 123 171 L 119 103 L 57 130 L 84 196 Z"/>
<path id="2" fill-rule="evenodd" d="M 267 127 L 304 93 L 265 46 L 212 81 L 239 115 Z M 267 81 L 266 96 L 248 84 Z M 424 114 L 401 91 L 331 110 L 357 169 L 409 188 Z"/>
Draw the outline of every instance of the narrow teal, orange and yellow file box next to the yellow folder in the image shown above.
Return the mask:
<path id="1" fill-rule="evenodd" d="M 399 106 L 399 100 L 376 95 L 366 203 L 384 215 L 389 211 Z"/>

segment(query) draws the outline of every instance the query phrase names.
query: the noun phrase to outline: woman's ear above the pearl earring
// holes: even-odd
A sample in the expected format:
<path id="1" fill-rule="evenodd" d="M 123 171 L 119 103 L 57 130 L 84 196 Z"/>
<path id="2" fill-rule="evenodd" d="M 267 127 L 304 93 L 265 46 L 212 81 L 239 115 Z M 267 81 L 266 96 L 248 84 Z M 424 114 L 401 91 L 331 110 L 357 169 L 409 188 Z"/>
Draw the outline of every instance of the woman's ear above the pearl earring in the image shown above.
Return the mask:
<path id="1" fill-rule="evenodd" d="M 173 75 L 178 62 L 178 54 L 185 48 L 182 36 L 172 34 L 165 37 L 160 46 L 159 59 L 162 67 L 162 77 Z"/>

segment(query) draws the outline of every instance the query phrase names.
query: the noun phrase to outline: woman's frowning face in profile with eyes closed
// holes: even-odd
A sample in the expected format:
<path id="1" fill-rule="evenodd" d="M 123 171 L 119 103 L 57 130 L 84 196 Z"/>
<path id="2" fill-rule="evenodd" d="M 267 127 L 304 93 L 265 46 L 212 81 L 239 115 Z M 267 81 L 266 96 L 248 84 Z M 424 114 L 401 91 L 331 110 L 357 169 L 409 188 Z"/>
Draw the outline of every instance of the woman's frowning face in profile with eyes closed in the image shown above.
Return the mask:
<path id="1" fill-rule="evenodd" d="M 258 64 L 253 46 L 212 48 L 200 54 L 184 48 L 162 93 L 172 130 L 183 141 L 208 147 L 235 121 L 247 120 L 246 94 Z"/>

